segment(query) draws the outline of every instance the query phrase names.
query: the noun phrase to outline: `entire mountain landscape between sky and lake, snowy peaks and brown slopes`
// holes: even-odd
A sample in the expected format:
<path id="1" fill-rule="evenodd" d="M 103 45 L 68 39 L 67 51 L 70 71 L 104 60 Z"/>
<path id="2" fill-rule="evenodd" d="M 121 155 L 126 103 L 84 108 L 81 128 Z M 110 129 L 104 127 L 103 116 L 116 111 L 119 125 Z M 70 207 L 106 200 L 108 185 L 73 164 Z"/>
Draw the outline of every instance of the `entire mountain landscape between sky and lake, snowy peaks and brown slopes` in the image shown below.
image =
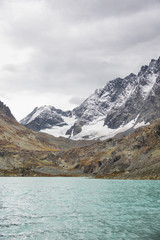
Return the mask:
<path id="1" fill-rule="evenodd" d="M 0 176 L 160 179 L 159 70 L 160 58 L 73 111 L 35 108 L 23 125 L 0 102 Z"/>

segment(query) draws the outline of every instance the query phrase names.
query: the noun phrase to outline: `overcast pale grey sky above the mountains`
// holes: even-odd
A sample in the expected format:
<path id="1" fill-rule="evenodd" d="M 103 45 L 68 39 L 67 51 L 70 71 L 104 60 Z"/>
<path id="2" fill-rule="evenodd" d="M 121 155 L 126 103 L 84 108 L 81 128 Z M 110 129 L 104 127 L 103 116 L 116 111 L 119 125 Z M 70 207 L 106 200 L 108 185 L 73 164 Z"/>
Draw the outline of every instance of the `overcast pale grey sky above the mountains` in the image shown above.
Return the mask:
<path id="1" fill-rule="evenodd" d="M 72 109 L 160 56 L 159 0 L 0 0 L 0 100 Z"/>

